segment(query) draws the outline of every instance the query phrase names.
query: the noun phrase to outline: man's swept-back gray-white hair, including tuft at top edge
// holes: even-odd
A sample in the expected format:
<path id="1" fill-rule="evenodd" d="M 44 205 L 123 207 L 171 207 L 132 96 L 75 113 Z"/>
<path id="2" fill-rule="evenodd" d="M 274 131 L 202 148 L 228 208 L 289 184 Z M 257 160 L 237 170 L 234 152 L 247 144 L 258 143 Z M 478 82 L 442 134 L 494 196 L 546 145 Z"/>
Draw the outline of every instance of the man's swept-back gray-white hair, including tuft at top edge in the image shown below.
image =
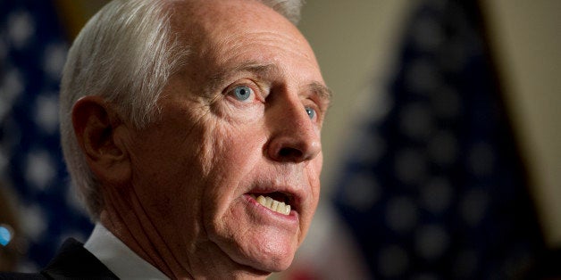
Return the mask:
<path id="1" fill-rule="evenodd" d="M 297 24 L 303 0 L 261 2 Z M 88 21 L 69 51 L 61 82 L 61 142 L 72 183 L 94 220 L 105 202 L 74 136 L 72 107 L 83 96 L 99 95 L 120 106 L 136 128 L 157 118 L 163 87 L 189 51 L 172 36 L 171 17 L 164 1 L 114 0 Z"/>

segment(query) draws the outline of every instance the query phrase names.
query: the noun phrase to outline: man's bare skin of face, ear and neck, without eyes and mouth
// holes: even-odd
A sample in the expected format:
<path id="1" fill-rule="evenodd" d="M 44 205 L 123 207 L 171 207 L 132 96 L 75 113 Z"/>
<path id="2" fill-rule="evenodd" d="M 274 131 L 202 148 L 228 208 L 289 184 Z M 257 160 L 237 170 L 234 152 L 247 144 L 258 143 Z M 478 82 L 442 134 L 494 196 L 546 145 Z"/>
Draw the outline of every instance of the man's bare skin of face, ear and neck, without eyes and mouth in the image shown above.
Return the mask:
<path id="1" fill-rule="evenodd" d="M 289 267 L 314 215 L 329 91 L 306 39 L 277 12 L 194 2 L 171 6 L 192 55 L 159 118 L 137 129 L 87 96 L 74 128 L 103 185 L 101 222 L 139 256 L 172 278 L 263 278 Z M 240 100 L 237 86 L 252 95 Z M 289 196 L 289 215 L 248 195 L 273 192 Z"/>

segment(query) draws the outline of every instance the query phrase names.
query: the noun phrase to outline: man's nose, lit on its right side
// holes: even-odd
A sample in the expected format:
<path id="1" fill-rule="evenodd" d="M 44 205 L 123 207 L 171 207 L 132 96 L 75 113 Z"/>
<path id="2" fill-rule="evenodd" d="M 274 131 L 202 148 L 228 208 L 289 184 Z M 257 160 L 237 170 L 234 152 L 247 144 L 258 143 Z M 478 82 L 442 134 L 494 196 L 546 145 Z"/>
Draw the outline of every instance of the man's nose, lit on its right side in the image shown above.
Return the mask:
<path id="1" fill-rule="evenodd" d="M 277 100 L 267 116 L 271 137 L 267 153 L 273 161 L 311 161 L 322 151 L 320 129 L 298 98 Z"/>

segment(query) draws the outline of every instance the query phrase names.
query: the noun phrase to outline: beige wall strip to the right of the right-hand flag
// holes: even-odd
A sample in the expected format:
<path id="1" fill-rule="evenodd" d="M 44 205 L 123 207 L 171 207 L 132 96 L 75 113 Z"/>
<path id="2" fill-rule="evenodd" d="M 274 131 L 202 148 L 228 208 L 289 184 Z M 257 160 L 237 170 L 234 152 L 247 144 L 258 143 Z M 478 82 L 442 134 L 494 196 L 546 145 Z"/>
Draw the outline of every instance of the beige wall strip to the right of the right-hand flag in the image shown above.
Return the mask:
<path id="1" fill-rule="evenodd" d="M 561 247 L 561 1 L 484 1 L 543 229 Z"/>

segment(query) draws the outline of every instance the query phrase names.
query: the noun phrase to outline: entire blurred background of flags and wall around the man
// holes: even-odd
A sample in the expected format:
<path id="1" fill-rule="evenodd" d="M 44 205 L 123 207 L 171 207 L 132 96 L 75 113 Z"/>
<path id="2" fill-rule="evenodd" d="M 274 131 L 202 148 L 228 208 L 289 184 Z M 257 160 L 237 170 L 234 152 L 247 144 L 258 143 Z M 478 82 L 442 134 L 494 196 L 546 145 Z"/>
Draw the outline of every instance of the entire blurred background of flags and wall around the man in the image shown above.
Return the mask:
<path id="1" fill-rule="evenodd" d="M 93 227 L 57 91 L 105 3 L 0 1 L 0 271 L 37 271 Z M 559 14 L 557 0 L 308 0 L 299 28 L 335 93 L 322 202 L 272 278 L 560 276 Z"/>

